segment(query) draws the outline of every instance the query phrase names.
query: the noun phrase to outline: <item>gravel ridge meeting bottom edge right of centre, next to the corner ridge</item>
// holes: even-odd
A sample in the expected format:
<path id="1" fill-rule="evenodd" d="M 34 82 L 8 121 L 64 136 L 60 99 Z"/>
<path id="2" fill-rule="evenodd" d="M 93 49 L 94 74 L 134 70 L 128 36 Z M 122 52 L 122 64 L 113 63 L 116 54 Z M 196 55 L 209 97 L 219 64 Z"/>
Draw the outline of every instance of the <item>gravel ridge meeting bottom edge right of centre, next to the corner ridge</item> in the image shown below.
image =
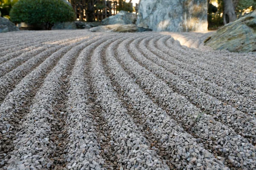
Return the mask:
<path id="1" fill-rule="evenodd" d="M 128 44 L 124 44 L 124 42 L 117 48 L 115 56 L 118 59 L 128 57 L 126 53 Z M 106 61 L 108 61 L 113 79 L 123 89 L 121 89 L 123 99 L 127 102 L 127 105 L 131 105 L 140 114 L 140 123 L 154 135 L 152 139 L 157 141 L 158 147 L 164 148 L 162 151 L 168 157 L 166 161 L 170 164 L 170 167 L 176 167 L 177 169 L 193 167 L 223 169 L 224 164 L 221 161 L 215 159 L 211 153 L 201 147 L 201 144 L 198 144 L 195 138 L 186 133 L 174 119 L 171 119 L 165 111 L 157 107 L 141 91 L 134 80 L 125 73 L 116 59 L 113 58 L 113 50 L 108 51 L 108 53 Z M 136 68 L 135 71 L 137 69 L 139 68 Z"/>

